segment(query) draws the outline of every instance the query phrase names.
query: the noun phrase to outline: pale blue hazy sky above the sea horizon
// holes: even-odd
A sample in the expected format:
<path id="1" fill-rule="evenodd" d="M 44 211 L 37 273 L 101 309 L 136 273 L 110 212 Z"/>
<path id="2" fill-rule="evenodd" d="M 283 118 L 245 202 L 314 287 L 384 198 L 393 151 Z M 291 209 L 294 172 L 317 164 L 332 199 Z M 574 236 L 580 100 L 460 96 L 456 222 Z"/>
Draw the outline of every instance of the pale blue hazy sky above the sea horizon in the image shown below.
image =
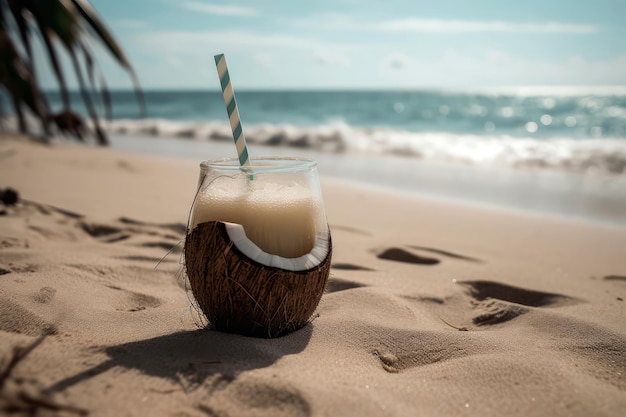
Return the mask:
<path id="1" fill-rule="evenodd" d="M 218 53 L 237 90 L 626 85 L 623 0 L 91 3 L 145 89 L 218 89 Z"/>

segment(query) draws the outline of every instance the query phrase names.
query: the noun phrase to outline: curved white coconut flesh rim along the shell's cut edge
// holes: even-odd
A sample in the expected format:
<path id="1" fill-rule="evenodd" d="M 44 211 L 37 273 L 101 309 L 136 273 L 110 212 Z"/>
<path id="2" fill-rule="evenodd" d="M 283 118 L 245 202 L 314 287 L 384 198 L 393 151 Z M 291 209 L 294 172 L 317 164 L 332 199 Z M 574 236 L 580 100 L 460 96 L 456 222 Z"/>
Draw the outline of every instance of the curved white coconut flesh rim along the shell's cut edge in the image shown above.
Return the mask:
<path id="1" fill-rule="evenodd" d="M 320 265 L 328 255 L 328 235 L 318 234 L 315 237 L 313 248 L 297 258 L 285 258 L 264 252 L 254 242 L 248 239 L 243 226 L 237 223 L 224 222 L 226 232 L 231 242 L 247 258 L 262 265 L 281 268 L 287 271 L 306 271 Z"/>

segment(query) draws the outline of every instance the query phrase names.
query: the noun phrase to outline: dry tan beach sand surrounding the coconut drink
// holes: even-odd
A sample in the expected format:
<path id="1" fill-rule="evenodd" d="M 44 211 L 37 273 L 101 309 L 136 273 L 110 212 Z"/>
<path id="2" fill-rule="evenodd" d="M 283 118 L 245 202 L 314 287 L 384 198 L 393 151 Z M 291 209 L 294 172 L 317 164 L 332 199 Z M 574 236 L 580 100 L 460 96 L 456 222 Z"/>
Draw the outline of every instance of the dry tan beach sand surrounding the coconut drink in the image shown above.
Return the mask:
<path id="1" fill-rule="evenodd" d="M 0 139 L 21 197 L 0 204 L 0 414 L 623 415 L 626 229 L 323 178 L 317 314 L 247 338 L 200 328 L 185 291 L 197 175 Z"/>

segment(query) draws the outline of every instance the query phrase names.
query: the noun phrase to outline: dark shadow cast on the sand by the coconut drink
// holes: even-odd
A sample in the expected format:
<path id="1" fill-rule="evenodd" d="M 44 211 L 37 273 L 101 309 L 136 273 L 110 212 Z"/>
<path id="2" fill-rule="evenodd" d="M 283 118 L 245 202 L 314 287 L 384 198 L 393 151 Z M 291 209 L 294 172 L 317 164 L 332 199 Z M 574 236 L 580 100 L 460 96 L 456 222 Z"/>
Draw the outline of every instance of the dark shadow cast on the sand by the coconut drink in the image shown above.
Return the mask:
<path id="1" fill-rule="evenodd" d="M 188 390 L 214 375 L 228 382 L 242 372 L 265 368 L 283 356 L 301 352 L 312 325 L 277 339 L 257 339 L 213 330 L 172 333 L 152 339 L 105 347 L 109 359 L 46 389 L 55 393 L 115 367 L 138 370 L 180 383 Z"/>

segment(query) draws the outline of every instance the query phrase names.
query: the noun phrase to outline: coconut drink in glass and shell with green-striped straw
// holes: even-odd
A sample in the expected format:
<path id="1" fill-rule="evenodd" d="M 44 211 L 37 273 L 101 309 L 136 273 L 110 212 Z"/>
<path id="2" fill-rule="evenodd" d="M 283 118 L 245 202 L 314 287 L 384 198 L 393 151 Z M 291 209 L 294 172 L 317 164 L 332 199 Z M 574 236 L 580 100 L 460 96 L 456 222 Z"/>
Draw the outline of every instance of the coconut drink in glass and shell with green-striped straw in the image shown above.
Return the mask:
<path id="1" fill-rule="evenodd" d="M 317 164 L 249 158 L 224 56 L 215 62 L 238 158 L 200 164 L 185 270 L 215 329 L 278 337 L 309 322 L 330 271 Z"/>

